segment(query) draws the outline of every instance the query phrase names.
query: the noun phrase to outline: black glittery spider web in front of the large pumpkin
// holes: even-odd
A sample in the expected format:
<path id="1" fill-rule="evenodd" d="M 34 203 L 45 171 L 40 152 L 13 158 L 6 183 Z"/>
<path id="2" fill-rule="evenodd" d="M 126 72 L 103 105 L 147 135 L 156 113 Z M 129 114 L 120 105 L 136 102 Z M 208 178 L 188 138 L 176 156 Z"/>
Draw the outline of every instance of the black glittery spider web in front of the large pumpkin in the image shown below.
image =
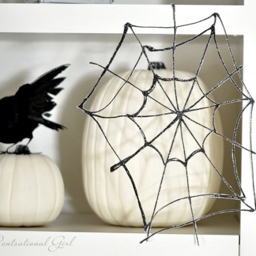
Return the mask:
<path id="1" fill-rule="evenodd" d="M 252 150 L 252 144 L 251 144 L 251 118 L 252 118 L 252 113 L 253 113 L 254 100 L 251 97 L 249 91 L 246 89 L 245 84 L 243 83 L 242 75 L 241 75 L 242 66 L 241 65 L 238 66 L 236 64 L 236 61 L 234 60 L 233 52 L 230 47 L 230 43 L 229 43 L 229 39 L 228 39 L 228 35 L 226 34 L 225 27 L 224 27 L 224 24 L 222 23 L 220 16 L 217 13 L 214 13 L 203 20 L 199 20 L 197 22 L 193 22 L 190 24 L 184 24 L 184 25 L 177 26 L 176 18 L 175 18 L 175 5 L 171 5 L 171 6 L 172 6 L 172 10 L 173 10 L 173 20 L 174 20 L 173 27 L 153 27 L 153 26 L 144 27 L 144 26 L 134 26 L 133 24 L 130 24 L 130 23 L 125 24 L 122 38 L 121 38 L 120 42 L 118 43 L 118 46 L 115 49 L 113 56 L 111 57 L 109 63 L 105 67 L 100 64 L 92 63 L 94 65 L 97 65 L 98 67 L 103 68 L 103 72 L 101 73 L 101 76 L 97 80 L 96 85 L 94 85 L 94 88 L 92 89 L 92 91 L 81 102 L 81 104 L 79 105 L 79 108 L 82 109 L 86 115 L 88 115 L 90 118 L 92 118 L 97 123 L 99 129 L 101 130 L 102 134 L 104 135 L 104 137 L 106 139 L 106 142 L 109 144 L 109 146 L 112 148 L 114 154 L 119 159 L 118 163 L 113 163 L 112 167 L 110 168 L 110 171 L 111 172 L 119 171 L 120 167 L 122 167 L 126 171 L 126 174 L 131 182 L 135 196 L 138 201 L 138 207 L 141 212 L 144 231 L 146 232 L 146 238 L 144 240 L 142 240 L 141 242 L 147 241 L 148 238 L 150 238 L 151 236 L 154 236 L 156 233 L 163 232 L 164 230 L 180 228 L 182 226 L 192 224 L 193 228 L 195 230 L 197 243 L 199 244 L 198 237 L 197 237 L 197 222 L 198 221 L 203 220 L 204 218 L 207 218 L 210 216 L 214 216 L 216 214 L 221 214 L 221 213 L 240 212 L 240 211 L 253 212 L 256 208 L 255 189 L 254 189 L 254 172 L 253 172 L 253 155 L 255 154 L 255 152 Z M 179 30 L 182 27 L 193 26 L 197 23 L 209 21 L 212 19 L 213 19 L 213 22 L 210 23 L 210 26 L 207 27 L 200 34 L 192 36 L 191 38 L 189 38 L 183 42 L 179 42 L 179 43 L 176 42 L 176 37 L 178 35 L 177 33 L 179 32 Z M 231 57 L 232 64 L 233 64 L 232 71 L 230 71 L 228 66 L 226 65 L 224 57 L 222 57 L 221 50 L 217 43 L 217 35 L 216 35 L 216 24 L 217 23 L 221 24 L 221 27 L 224 30 L 226 46 L 228 46 L 228 52 L 229 52 L 229 55 Z M 146 28 L 146 29 L 160 28 L 160 29 L 172 30 L 172 32 L 173 32 L 172 44 L 170 44 L 170 46 L 164 47 L 164 48 L 154 48 L 152 46 L 143 44 L 141 42 L 141 40 L 139 39 L 139 36 L 135 33 L 135 28 L 140 28 L 140 29 L 142 29 L 142 28 Z M 131 69 L 130 75 L 128 77 L 121 77 L 120 75 L 118 75 L 118 73 L 116 73 L 116 72 L 112 71 L 112 69 L 110 69 L 110 65 L 113 63 L 113 60 L 116 57 L 119 49 L 122 47 L 122 44 L 123 44 L 128 32 L 131 32 L 131 34 L 133 34 L 135 36 L 135 39 L 137 40 L 139 46 L 141 47 L 141 52 L 139 53 L 139 57 L 138 57 L 137 61 L 135 61 L 133 69 Z M 207 40 L 206 45 L 204 46 L 203 54 L 200 58 L 199 65 L 195 72 L 195 76 L 189 77 L 188 79 L 181 79 L 178 75 L 176 75 L 176 61 L 177 61 L 176 60 L 176 52 L 178 49 L 183 47 L 185 44 L 188 44 L 189 42 L 193 42 L 193 40 L 200 38 L 200 36 L 202 36 L 202 35 L 207 35 L 208 40 Z M 199 76 L 200 71 L 203 67 L 205 56 L 207 56 L 207 52 L 208 52 L 210 43 L 213 43 L 213 45 L 215 47 L 217 56 L 221 63 L 220 64 L 221 68 L 225 70 L 226 76 L 224 77 L 224 79 L 218 81 L 217 84 L 214 84 L 208 91 L 205 92 L 201 88 L 200 81 L 198 80 L 197 77 Z M 171 52 L 172 77 L 161 77 L 158 75 L 158 72 L 156 71 L 156 69 L 154 67 L 154 63 L 152 63 L 150 61 L 150 57 L 148 57 L 148 52 Z M 139 86 L 133 84 L 130 81 L 130 77 L 133 76 L 134 71 L 137 69 L 138 64 L 142 61 L 142 59 L 143 60 L 146 59 L 146 62 L 148 64 L 148 69 L 152 72 L 152 84 L 151 84 L 150 88 L 148 88 L 147 90 L 142 90 L 141 88 L 139 88 Z M 85 108 L 86 103 L 90 100 L 91 97 L 93 97 L 92 95 L 93 95 L 94 91 L 97 89 L 98 85 L 100 84 L 101 80 L 104 78 L 104 76 L 106 74 L 118 77 L 120 80 L 123 81 L 123 86 L 125 86 L 125 85 L 133 86 L 133 88 L 135 90 L 138 90 L 138 93 L 141 93 L 143 95 L 143 103 L 141 105 L 139 105 L 139 108 L 136 112 L 117 114 L 117 115 L 112 115 L 112 116 L 105 116 L 104 114 L 101 114 L 101 112 L 102 113 L 104 112 L 105 108 L 108 108 L 108 106 L 110 106 L 112 104 L 112 102 L 114 102 L 115 98 L 118 97 L 118 94 L 121 91 L 121 89 L 119 89 L 117 91 L 117 93 L 115 93 L 115 95 L 109 99 L 109 102 L 108 102 L 108 104 L 106 104 L 105 108 L 103 108 L 101 110 L 95 110 L 95 111 L 88 110 Z M 223 86 L 226 86 L 227 81 L 230 84 L 232 84 L 232 86 L 235 90 L 237 90 L 239 97 L 229 99 L 229 100 L 222 100 L 222 101 L 214 100 L 214 97 L 212 97 L 212 94 L 214 94 L 214 92 L 220 90 Z M 167 93 L 164 90 L 164 87 L 162 86 L 163 82 L 171 82 L 172 84 L 174 84 L 175 100 L 171 100 L 171 98 L 168 97 Z M 177 90 L 177 88 L 176 88 L 177 82 L 181 82 L 181 83 L 182 82 L 191 82 L 191 84 L 192 84 L 191 89 L 189 90 L 189 93 L 187 94 L 187 98 L 184 99 L 183 104 L 179 104 L 179 95 L 178 95 L 179 90 Z M 160 101 L 158 101 L 157 98 L 155 98 L 154 90 L 156 90 L 156 88 L 160 88 L 163 91 L 163 93 L 166 95 L 168 104 L 166 104 L 166 102 L 160 102 Z M 200 90 L 201 97 L 198 98 L 195 102 L 193 102 L 191 104 L 191 101 L 189 101 L 189 99 L 192 97 L 191 95 L 193 94 L 193 89 L 195 89 L 195 88 L 198 88 Z M 97 98 L 96 98 L 96 100 L 97 100 Z M 163 106 L 163 108 L 166 109 L 166 112 L 147 114 L 147 115 L 143 114 L 143 110 L 147 107 L 147 102 L 149 100 L 154 100 L 159 105 Z M 199 102 L 201 102 L 201 101 L 207 101 L 208 104 L 204 107 L 201 107 L 201 106 L 198 107 L 197 104 L 199 104 Z M 232 132 L 232 137 L 229 137 L 228 135 L 222 134 L 220 131 L 218 131 L 218 129 L 216 127 L 216 115 L 217 115 L 218 111 L 221 108 L 223 108 L 223 106 L 228 106 L 228 105 L 237 104 L 237 103 L 241 104 L 241 110 L 240 110 L 240 113 L 237 115 L 236 121 L 234 122 L 234 129 Z M 171 105 L 171 107 L 170 107 L 170 105 Z M 196 121 L 195 119 L 189 117 L 189 113 L 195 112 L 195 111 L 200 112 L 205 109 L 212 110 L 212 127 L 208 127 L 208 126 L 204 125 L 203 123 L 200 123 L 200 122 Z M 250 113 L 250 117 L 249 117 L 249 126 L 250 126 L 249 141 L 250 141 L 250 144 L 249 144 L 249 146 L 243 146 L 242 143 L 239 141 L 239 139 L 237 139 L 237 137 L 238 137 L 238 130 L 240 129 L 240 126 L 241 126 L 242 116 L 248 109 L 249 109 L 249 113 Z M 142 118 L 158 117 L 160 115 L 161 116 L 172 115 L 174 118 L 172 118 L 172 121 L 170 123 L 168 123 L 168 125 L 166 127 L 161 128 L 159 133 L 156 134 L 155 137 L 148 139 L 147 134 L 144 132 L 143 127 L 142 127 L 141 123 L 138 122 L 138 120 L 142 119 Z M 134 123 L 134 126 L 137 127 L 137 129 L 138 129 L 138 136 L 142 137 L 143 141 L 144 141 L 144 143 L 142 144 L 141 147 L 139 147 L 137 150 L 135 150 L 132 154 L 127 155 L 125 158 L 121 158 L 121 156 L 119 156 L 118 152 L 115 150 L 114 146 L 112 145 L 112 143 L 109 141 L 108 137 L 106 136 L 104 128 L 101 126 L 100 121 L 99 121 L 101 118 L 118 119 L 118 118 L 123 118 L 123 117 L 128 118 L 131 122 Z M 205 134 L 203 141 L 200 141 L 196 137 L 196 135 L 193 135 L 193 131 L 189 128 L 189 125 L 188 125 L 189 122 L 193 122 L 196 125 L 203 127 L 203 129 L 207 130 L 207 133 Z M 156 141 L 156 139 L 158 139 L 164 133 L 166 133 L 166 131 L 169 129 L 175 130 L 174 137 L 170 139 L 171 144 L 167 145 L 167 149 L 168 149 L 167 154 L 163 154 L 163 152 L 161 150 L 159 150 L 159 148 L 157 146 L 155 146 L 154 142 Z M 188 133 L 191 135 L 191 138 L 197 144 L 197 149 L 192 152 L 188 152 L 186 149 L 185 141 L 183 138 L 184 130 L 188 131 Z M 174 156 L 171 156 L 172 155 L 172 147 L 174 145 L 175 140 L 177 141 L 178 133 L 180 134 L 179 135 L 180 148 L 181 148 L 181 151 L 183 151 L 182 154 L 184 156 L 182 159 L 175 158 Z M 232 185 L 229 184 L 229 181 L 225 179 L 225 175 L 222 174 L 221 170 L 219 169 L 220 167 L 217 167 L 216 164 L 214 164 L 212 162 L 208 153 L 205 151 L 204 143 L 205 143 L 205 141 L 207 141 L 208 137 L 210 137 L 211 135 L 215 135 L 218 138 L 223 139 L 226 143 L 231 145 L 230 148 L 231 148 L 231 158 L 232 158 L 232 165 L 233 165 L 232 172 L 235 177 L 238 189 L 234 189 L 232 187 Z M 146 149 L 148 147 L 155 150 L 155 152 L 162 159 L 162 163 L 163 163 L 162 177 L 160 179 L 159 189 L 157 191 L 154 209 L 152 209 L 152 214 L 151 214 L 150 220 L 146 220 L 146 217 L 144 214 L 144 209 L 143 209 L 143 204 L 141 203 L 137 185 L 135 184 L 133 175 L 131 174 L 131 170 L 129 170 L 129 167 L 127 167 L 127 163 L 129 163 L 129 161 L 131 159 L 133 159 L 135 156 L 139 155 L 139 153 L 141 151 L 143 151 L 144 149 Z M 237 154 L 239 154 L 239 152 L 242 150 L 246 151 L 249 154 L 249 158 L 250 158 L 250 162 L 251 162 L 251 175 L 252 175 L 251 185 L 253 187 L 253 193 L 254 193 L 254 195 L 253 195 L 253 198 L 254 198 L 253 204 L 254 205 L 249 205 L 246 203 L 246 196 L 245 196 L 245 193 L 243 192 L 240 177 L 238 174 L 239 164 L 237 163 Z M 191 193 L 190 193 L 191 188 L 189 186 L 189 173 L 188 173 L 187 166 L 188 166 L 189 160 L 192 159 L 198 153 L 204 154 L 205 158 L 208 159 L 209 164 L 213 167 L 216 174 L 220 177 L 222 183 L 224 183 L 226 188 L 228 188 L 229 193 L 217 193 L 216 192 L 216 193 L 209 193 L 209 194 L 202 194 L 202 195 L 191 195 Z M 170 201 L 166 205 L 162 205 L 159 207 L 158 201 L 159 201 L 164 177 L 166 175 L 166 169 L 167 169 L 168 164 L 173 163 L 173 162 L 179 162 L 185 168 L 186 178 L 187 178 L 187 197 L 182 197 L 175 201 Z M 204 216 L 195 217 L 194 211 L 193 211 L 192 200 L 197 197 L 211 197 L 211 198 L 215 198 L 215 199 L 238 200 L 241 202 L 241 208 L 221 209 L 221 210 L 216 210 L 214 212 L 205 214 Z M 179 200 L 188 200 L 189 201 L 189 206 L 191 208 L 191 221 L 188 221 L 188 222 L 185 222 L 185 223 L 182 223 L 179 225 L 168 226 L 167 228 L 161 228 L 158 231 L 151 234 L 150 232 L 151 232 L 152 225 L 154 224 L 155 217 L 160 212 L 162 212 L 162 210 L 166 209 L 167 207 L 176 203 Z"/>

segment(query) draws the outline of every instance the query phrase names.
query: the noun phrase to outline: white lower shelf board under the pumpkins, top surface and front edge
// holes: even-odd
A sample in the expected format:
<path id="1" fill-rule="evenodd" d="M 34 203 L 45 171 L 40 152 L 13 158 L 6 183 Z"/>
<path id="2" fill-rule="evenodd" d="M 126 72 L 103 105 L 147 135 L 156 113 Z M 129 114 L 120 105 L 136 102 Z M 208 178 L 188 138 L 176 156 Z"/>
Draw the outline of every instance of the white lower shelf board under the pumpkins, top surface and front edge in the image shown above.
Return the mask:
<path id="1" fill-rule="evenodd" d="M 94 214 L 62 213 L 55 221 L 44 227 L 0 228 L 0 252 L 3 255 L 26 256 L 164 256 L 170 253 L 179 256 L 238 256 L 239 223 L 235 214 L 224 214 L 217 218 L 218 220 L 213 218 L 198 222 L 198 246 L 192 226 L 156 234 L 149 242 L 140 244 L 139 242 L 145 238 L 143 228 L 111 226 Z M 15 246 L 14 243 L 11 246 L 14 240 L 16 243 L 19 242 L 20 246 Z M 24 245 L 24 241 L 29 241 L 31 246 Z M 60 241 L 65 241 L 61 249 L 57 248 Z M 5 246 L 3 243 L 10 244 Z M 41 243 L 41 246 L 34 246 L 33 243 Z M 49 249 L 56 250 L 50 252 Z"/>

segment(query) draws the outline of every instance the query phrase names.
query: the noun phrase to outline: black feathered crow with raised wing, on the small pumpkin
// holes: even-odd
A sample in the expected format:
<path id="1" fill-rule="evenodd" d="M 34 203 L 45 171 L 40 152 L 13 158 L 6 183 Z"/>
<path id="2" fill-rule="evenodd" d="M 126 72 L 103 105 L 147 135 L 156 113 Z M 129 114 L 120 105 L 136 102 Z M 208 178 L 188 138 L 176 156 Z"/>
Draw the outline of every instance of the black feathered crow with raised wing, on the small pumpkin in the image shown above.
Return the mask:
<path id="1" fill-rule="evenodd" d="M 14 96 L 0 100 L 0 142 L 18 143 L 24 138 L 31 140 L 39 124 L 53 130 L 64 129 L 64 126 L 44 119 L 44 116 L 51 115 L 48 112 L 56 106 L 52 96 L 63 89 L 57 86 L 65 77 L 55 77 L 68 66 L 52 69 L 31 84 L 20 86 Z"/>

